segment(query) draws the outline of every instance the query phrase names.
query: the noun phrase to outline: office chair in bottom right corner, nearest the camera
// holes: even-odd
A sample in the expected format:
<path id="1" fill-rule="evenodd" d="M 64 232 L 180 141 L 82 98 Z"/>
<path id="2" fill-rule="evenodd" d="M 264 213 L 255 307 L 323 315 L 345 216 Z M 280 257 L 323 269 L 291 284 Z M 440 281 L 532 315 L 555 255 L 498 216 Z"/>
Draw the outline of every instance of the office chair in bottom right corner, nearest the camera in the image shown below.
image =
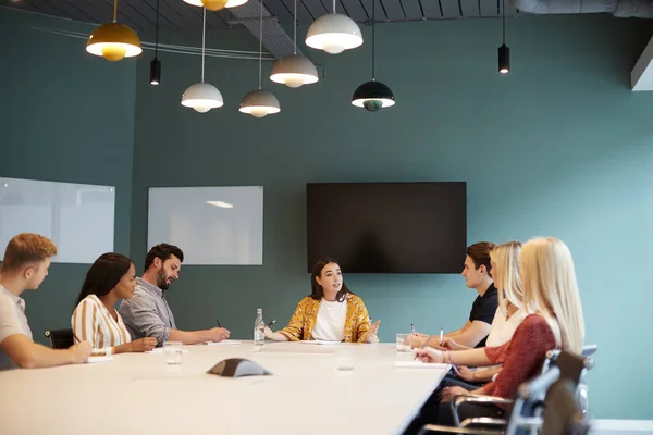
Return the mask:
<path id="1" fill-rule="evenodd" d="M 473 395 L 456 396 L 452 400 L 452 411 L 457 426 L 428 424 L 422 427 L 420 434 L 526 435 L 537 434 L 539 430 L 546 428 L 546 435 L 569 433 L 586 435 L 589 431 L 589 423 L 575 398 L 575 391 L 582 371 L 591 366 L 592 361 L 589 358 L 565 351 L 558 352 L 555 364 L 550 364 L 546 372 L 519 387 L 516 400 Z M 566 397 L 565 394 L 569 397 Z M 544 399 L 542 400 L 542 398 Z M 554 401 L 560 402 L 558 405 L 563 406 L 562 411 L 550 410 L 546 412 L 547 408 L 557 409 L 556 403 L 552 405 Z M 463 403 L 514 403 L 514 407 L 508 421 L 493 418 L 471 418 L 460 422 L 458 409 Z M 566 432 L 555 432 L 559 427 Z M 541 435 L 544 435 L 544 432 Z"/>

